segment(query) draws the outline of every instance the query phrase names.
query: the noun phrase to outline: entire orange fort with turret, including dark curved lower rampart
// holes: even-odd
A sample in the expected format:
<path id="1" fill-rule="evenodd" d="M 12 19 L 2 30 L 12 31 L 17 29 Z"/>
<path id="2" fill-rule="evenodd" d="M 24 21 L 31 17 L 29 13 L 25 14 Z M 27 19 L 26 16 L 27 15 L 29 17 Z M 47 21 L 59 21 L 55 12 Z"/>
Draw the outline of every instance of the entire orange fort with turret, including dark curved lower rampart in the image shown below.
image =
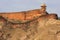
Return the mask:
<path id="1" fill-rule="evenodd" d="M 0 13 L 0 21 L 2 24 L 10 24 L 13 27 L 16 25 L 32 25 L 36 21 L 41 21 L 45 19 L 58 19 L 57 14 L 49 14 L 46 11 L 46 4 L 42 4 L 40 9 L 22 11 L 22 12 L 10 12 L 10 13 Z M 22 27 L 22 26 L 21 26 Z"/>

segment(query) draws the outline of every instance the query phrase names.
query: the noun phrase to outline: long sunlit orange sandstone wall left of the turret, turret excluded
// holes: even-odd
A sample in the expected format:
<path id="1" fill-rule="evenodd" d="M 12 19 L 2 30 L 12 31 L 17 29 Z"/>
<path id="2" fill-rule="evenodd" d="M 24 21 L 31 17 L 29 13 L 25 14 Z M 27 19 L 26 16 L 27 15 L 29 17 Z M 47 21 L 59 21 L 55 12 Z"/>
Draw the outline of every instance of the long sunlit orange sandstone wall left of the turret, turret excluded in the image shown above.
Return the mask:
<path id="1" fill-rule="evenodd" d="M 9 19 L 31 20 L 34 17 L 46 15 L 46 13 L 42 13 L 40 9 L 36 9 L 36 10 L 23 11 L 23 12 L 1 13 L 0 15 L 3 17 L 7 17 Z"/>

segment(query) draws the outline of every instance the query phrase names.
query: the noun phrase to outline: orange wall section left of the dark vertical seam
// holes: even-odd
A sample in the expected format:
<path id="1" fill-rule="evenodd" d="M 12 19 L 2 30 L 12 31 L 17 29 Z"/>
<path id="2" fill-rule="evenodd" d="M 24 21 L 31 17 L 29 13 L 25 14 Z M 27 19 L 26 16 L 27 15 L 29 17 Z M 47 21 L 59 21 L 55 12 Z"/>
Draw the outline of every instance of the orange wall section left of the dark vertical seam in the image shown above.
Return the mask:
<path id="1" fill-rule="evenodd" d="M 8 19 L 17 19 L 17 20 L 23 20 L 24 19 L 24 13 L 6 13 L 6 14 L 0 14 L 3 17 L 8 17 Z"/>

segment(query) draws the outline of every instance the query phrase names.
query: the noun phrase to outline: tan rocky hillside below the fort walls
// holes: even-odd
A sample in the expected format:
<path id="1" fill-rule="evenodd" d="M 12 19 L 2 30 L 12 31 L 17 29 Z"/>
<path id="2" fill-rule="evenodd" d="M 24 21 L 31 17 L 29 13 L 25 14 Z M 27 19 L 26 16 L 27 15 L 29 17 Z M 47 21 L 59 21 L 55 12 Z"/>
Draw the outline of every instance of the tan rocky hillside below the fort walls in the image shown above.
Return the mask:
<path id="1" fill-rule="evenodd" d="M 60 20 L 35 20 L 31 25 L 16 25 L 17 28 L 9 25 L 3 27 L 1 40 L 60 40 Z"/>

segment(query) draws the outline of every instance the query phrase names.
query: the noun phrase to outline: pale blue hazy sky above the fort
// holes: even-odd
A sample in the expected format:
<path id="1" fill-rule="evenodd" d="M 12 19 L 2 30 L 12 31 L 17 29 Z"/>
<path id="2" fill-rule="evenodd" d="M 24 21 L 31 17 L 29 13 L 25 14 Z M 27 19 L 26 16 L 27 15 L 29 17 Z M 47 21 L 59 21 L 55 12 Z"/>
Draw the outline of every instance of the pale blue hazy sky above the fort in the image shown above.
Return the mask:
<path id="1" fill-rule="evenodd" d="M 56 13 L 60 17 L 60 0 L 0 0 L 0 12 L 39 9 L 42 3 L 47 5 L 48 13 Z"/>

